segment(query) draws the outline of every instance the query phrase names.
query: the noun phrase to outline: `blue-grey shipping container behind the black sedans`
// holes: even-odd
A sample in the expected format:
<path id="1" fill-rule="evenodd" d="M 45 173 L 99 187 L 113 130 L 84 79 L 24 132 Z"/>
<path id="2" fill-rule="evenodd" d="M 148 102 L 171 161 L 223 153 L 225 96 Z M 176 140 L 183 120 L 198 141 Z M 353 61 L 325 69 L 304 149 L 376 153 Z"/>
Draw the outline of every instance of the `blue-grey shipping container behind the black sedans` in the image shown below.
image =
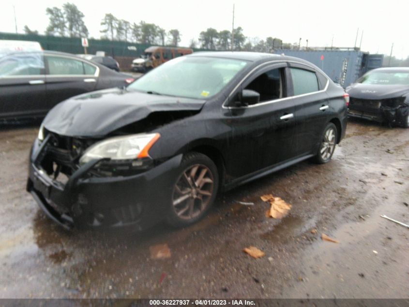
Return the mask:
<path id="1" fill-rule="evenodd" d="M 307 60 L 321 68 L 335 83 L 347 87 L 365 72 L 382 66 L 383 54 L 350 49 L 275 49 L 274 53 Z"/>

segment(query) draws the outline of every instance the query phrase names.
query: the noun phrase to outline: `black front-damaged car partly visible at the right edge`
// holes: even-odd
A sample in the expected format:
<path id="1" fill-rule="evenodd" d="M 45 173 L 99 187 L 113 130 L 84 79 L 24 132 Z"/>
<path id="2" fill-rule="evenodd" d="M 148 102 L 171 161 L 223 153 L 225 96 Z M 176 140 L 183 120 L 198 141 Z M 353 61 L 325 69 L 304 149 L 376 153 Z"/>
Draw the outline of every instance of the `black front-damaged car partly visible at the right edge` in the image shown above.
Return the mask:
<path id="1" fill-rule="evenodd" d="M 349 116 L 409 128 L 409 67 L 371 70 L 347 92 Z"/>

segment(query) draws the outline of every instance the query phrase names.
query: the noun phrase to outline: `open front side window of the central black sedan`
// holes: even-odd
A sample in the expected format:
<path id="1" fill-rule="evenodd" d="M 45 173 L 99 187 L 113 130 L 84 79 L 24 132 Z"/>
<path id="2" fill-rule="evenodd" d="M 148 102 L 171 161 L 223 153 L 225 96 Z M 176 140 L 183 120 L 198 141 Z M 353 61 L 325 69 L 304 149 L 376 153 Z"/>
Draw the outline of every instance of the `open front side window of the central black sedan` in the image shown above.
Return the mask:
<path id="1" fill-rule="evenodd" d="M 260 94 L 260 101 L 265 102 L 283 97 L 284 68 L 275 68 L 258 76 L 245 89 Z"/>

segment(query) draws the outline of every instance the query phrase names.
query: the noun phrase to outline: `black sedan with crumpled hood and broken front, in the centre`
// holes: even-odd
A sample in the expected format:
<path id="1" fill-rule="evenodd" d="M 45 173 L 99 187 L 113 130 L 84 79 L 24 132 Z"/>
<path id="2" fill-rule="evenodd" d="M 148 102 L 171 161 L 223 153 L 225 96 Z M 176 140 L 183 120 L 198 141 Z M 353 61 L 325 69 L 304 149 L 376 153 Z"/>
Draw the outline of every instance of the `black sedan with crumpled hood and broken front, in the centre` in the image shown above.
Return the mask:
<path id="1" fill-rule="evenodd" d="M 67 228 L 187 226 L 218 191 L 305 159 L 329 162 L 347 105 L 304 60 L 194 53 L 54 107 L 31 149 L 27 190 Z"/>

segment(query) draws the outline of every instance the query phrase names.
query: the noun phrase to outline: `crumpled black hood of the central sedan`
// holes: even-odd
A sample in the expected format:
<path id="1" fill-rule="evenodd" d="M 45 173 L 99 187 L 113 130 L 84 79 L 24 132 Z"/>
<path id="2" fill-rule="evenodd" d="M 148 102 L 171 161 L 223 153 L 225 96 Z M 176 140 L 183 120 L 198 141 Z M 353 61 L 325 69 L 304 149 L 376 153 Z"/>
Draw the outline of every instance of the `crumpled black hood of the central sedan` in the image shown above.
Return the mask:
<path id="1" fill-rule="evenodd" d="M 69 98 L 43 121 L 45 129 L 65 136 L 98 137 L 158 111 L 200 111 L 205 100 L 107 89 Z"/>

